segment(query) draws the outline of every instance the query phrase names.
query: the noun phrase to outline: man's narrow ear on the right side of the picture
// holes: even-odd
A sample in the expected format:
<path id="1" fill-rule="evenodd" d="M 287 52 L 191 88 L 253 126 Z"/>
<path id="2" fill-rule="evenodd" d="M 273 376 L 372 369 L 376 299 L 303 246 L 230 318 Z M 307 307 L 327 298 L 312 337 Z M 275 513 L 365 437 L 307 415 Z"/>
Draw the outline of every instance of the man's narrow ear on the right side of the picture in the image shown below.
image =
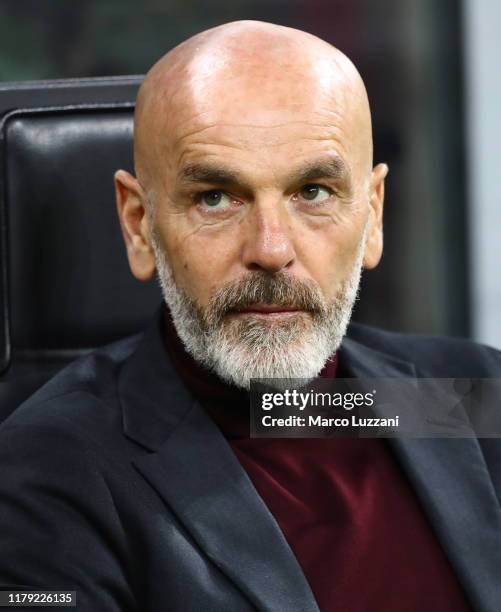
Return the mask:
<path id="1" fill-rule="evenodd" d="M 371 174 L 369 226 L 363 262 L 366 270 L 375 268 L 383 254 L 384 180 L 387 174 L 386 164 L 378 164 Z"/>

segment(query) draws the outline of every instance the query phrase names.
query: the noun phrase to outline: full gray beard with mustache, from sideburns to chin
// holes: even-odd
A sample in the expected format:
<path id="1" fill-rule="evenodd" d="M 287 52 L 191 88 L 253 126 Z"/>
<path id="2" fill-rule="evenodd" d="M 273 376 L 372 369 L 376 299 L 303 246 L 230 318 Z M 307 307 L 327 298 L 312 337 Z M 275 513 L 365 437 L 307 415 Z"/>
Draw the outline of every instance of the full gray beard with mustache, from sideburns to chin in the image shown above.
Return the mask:
<path id="1" fill-rule="evenodd" d="M 163 297 L 185 349 L 224 381 L 249 389 L 253 378 L 307 383 L 337 351 L 357 299 L 366 235 L 364 231 L 353 268 L 332 303 L 326 302 L 314 281 L 300 281 L 285 273 L 252 273 L 222 287 L 205 308 L 176 284 L 155 232 L 151 241 Z M 228 316 L 231 310 L 257 302 L 295 306 L 306 312 L 270 322 Z"/>

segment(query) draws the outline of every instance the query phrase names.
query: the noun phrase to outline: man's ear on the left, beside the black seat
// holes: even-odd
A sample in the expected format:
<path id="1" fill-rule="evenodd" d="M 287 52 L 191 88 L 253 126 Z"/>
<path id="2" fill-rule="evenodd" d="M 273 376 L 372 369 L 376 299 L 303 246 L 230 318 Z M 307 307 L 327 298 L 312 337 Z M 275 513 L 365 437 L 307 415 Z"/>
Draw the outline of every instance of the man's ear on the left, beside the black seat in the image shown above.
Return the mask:
<path id="1" fill-rule="evenodd" d="M 146 195 L 139 181 L 125 170 L 115 173 L 118 217 L 132 274 L 141 281 L 155 274 L 155 255 L 149 240 Z"/>

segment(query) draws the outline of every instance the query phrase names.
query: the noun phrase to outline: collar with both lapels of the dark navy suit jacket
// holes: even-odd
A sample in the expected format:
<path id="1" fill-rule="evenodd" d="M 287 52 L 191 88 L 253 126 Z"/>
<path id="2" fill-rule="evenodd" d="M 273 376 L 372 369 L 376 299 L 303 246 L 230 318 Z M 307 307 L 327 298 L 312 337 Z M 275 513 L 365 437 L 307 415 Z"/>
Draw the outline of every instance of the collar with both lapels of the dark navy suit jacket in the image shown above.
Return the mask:
<path id="1" fill-rule="evenodd" d="M 161 318 L 159 311 L 118 383 L 124 433 L 151 451 L 135 461 L 137 469 L 259 610 L 318 612 L 275 519 L 176 375 L 163 345 Z M 343 342 L 340 361 L 358 378 L 419 374 L 414 364 L 350 338 Z M 497 609 L 501 514 L 478 441 L 392 439 L 390 444 L 475 609 Z"/>

